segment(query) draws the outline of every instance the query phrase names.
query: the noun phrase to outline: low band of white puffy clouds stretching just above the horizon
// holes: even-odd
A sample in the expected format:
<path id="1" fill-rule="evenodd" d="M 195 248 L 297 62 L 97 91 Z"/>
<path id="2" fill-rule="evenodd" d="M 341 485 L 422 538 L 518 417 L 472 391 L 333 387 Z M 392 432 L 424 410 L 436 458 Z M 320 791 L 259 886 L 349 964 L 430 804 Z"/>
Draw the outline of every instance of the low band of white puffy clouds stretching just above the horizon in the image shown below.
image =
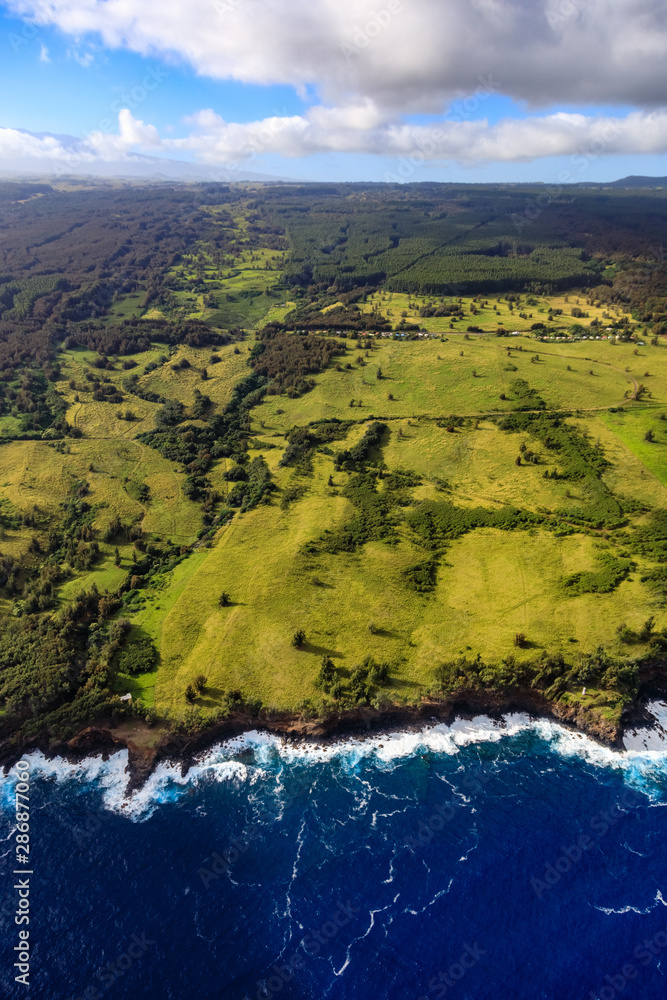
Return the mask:
<path id="1" fill-rule="evenodd" d="M 606 154 L 667 152 L 667 110 L 635 111 L 625 118 L 587 117 L 563 112 L 487 121 L 444 119 L 430 126 L 387 120 L 364 102 L 337 108 L 311 108 L 305 115 L 274 116 L 239 124 L 226 122 L 212 110 L 188 119 L 183 138 L 164 138 L 154 125 L 118 116 L 118 133 L 94 132 L 85 139 L 0 129 L 0 158 L 36 157 L 77 161 L 128 159 L 136 153 L 193 156 L 208 164 L 248 163 L 256 156 L 285 157 L 314 153 L 371 153 L 411 158 L 415 162 L 478 164 L 519 162 L 546 156 L 596 159 Z"/>

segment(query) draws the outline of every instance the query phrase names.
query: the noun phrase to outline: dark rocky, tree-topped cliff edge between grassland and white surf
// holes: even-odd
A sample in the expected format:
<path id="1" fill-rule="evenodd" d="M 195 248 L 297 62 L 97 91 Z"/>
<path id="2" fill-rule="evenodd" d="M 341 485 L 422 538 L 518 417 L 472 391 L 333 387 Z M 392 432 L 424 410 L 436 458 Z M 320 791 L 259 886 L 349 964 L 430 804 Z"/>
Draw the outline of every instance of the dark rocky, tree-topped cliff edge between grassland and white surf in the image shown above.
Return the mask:
<path id="1" fill-rule="evenodd" d="M 128 784 L 126 794 L 141 789 L 159 764 L 180 764 L 185 776 L 198 758 L 212 747 L 257 730 L 294 744 L 333 745 L 351 737 L 375 737 L 383 733 L 415 732 L 433 725 L 451 725 L 457 719 L 472 720 L 485 716 L 502 722 L 511 713 L 523 713 L 531 720 L 555 722 L 566 729 L 580 733 L 609 750 L 624 749 L 624 735 L 637 728 L 656 724 L 655 717 L 647 710 L 652 699 L 665 696 L 664 688 L 646 685 L 637 702 L 624 714 L 620 725 L 606 722 L 599 716 L 573 706 L 552 703 L 540 692 L 532 689 L 502 691 L 462 690 L 455 697 L 442 700 L 425 700 L 419 705 L 390 705 L 379 710 L 359 708 L 324 719 L 302 720 L 287 713 L 271 718 L 236 712 L 223 722 L 209 726 L 194 735 L 166 731 L 153 745 L 135 741 L 126 734 L 114 732 L 105 723 L 92 724 L 72 739 L 54 743 L 35 740 L 17 747 L 11 738 L 0 744 L 0 767 L 4 773 L 21 757 L 33 751 L 41 752 L 47 759 L 61 758 L 77 764 L 91 757 L 107 760 L 123 750 L 128 753 Z M 142 724 L 143 732 L 150 732 Z M 137 727 L 138 729 L 139 727 Z"/>

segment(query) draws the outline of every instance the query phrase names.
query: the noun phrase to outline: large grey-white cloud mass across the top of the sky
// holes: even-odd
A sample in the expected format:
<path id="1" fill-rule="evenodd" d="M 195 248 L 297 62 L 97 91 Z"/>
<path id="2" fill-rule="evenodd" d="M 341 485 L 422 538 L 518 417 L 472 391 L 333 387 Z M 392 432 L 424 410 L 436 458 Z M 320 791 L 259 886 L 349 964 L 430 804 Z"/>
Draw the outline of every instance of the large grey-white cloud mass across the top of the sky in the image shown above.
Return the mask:
<path id="1" fill-rule="evenodd" d="M 319 88 L 328 104 L 439 111 L 482 77 L 531 107 L 657 106 L 663 0 L 6 0 L 75 39 L 197 72 Z"/>

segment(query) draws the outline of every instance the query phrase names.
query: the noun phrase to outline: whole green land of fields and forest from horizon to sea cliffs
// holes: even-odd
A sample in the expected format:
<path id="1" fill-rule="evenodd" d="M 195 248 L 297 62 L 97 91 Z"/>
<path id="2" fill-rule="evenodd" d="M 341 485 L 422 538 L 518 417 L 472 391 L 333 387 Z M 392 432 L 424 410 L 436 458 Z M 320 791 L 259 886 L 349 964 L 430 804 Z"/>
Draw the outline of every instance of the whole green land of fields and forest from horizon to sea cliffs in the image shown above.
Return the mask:
<path id="1" fill-rule="evenodd" d="M 6 737 L 618 731 L 667 648 L 665 201 L 533 194 L 0 185 Z"/>

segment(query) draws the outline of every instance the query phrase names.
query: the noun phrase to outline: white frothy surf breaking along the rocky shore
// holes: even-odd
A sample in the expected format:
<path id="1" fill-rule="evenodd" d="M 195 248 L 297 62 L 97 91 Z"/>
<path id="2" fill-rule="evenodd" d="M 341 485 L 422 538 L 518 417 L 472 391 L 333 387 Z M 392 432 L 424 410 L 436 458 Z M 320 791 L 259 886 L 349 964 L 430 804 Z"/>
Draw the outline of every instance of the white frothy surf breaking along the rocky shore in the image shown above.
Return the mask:
<path id="1" fill-rule="evenodd" d="M 372 759 L 380 770 L 391 770 L 401 760 L 425 754 L 454 756 L 473 744 L 497 743 L 502 739 L 533 732 L 550 748 L 564 757 L 582 757 L 589 764 L 619 770 L 626 783 L 648 794 L 656 805 L 662 796 L 654 790 L 667 779 L 667 704 L 647 706 L 655 716 L 655 729 L 628 734 L 625 749 L 614 751 L 582 733 L 566 729 L 546 719 L 532 719 L 524 713 L 511 713 L 502 719 L 477 716 L 457 719 L 451 724 L 425 725 L 419 730 L 374 734 L 341 739 L 335 743 L 287 742 L 270 733 L 251 730 L 226 740 L 205 753 L 184 774 L 180 763 L 159 764 L 146 783 L 128 793 L 128 753 L 121 750 L 106 760 L 88 757 L 77 763 L 63 758 L 46 758 L 41 752 L 28 754 L 31 779 L 74 783 L 83 788 L 94 786 L 101 793 L 104 809 L 134 821 L 148 819 L 159 805 L 177 801 L 188 789 L 205 782 L 234 782 L 253 786 L 269 773 L 278 774 L 284 767 L 335 760 L 348 774 L 362 761 Z M 649 744 L 647 746 L 647 744 Z M 239 757 L 248 756 L 248 762 Z M 16 768 L 0 779 L 0 805 L 14 804 Z M 281 783 L 279 782 L 279 785 Z"/>

